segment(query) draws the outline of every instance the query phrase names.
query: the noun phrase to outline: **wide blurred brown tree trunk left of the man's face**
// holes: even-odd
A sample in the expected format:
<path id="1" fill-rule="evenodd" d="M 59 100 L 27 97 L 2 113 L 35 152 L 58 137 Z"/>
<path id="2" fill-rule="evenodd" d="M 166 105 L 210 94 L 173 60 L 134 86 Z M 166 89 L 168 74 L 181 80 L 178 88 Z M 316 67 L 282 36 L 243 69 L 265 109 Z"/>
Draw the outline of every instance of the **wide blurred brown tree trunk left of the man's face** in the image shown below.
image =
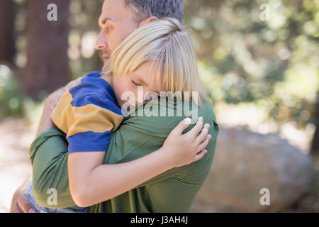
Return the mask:
<path id="1" fill-rule="evenodd" d="M 23 90 L 35 100 L 70 80 L 67 56 L 70 0 L 28 1 L 27 65 Z M 57 6 L 57 21 L 49 21 L 49 4 Z"/>

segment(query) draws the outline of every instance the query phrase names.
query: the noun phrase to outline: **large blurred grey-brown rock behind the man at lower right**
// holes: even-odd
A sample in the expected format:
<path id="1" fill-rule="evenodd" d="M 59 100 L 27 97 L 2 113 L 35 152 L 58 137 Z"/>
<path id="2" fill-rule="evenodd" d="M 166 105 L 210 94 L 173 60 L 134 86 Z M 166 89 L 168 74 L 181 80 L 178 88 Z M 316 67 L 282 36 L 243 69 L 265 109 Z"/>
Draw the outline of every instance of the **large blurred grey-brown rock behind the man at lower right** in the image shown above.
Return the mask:
<path id="1" fill-rule="evenodd" d="M 220 127 L 211 173 L 196 204 L 212 211 L 281 211 L 308 191 L 312 170 L 310 157 L 278 135 Z M 263 188 L 269 189 L 269 205 L 260 204 Z"/>

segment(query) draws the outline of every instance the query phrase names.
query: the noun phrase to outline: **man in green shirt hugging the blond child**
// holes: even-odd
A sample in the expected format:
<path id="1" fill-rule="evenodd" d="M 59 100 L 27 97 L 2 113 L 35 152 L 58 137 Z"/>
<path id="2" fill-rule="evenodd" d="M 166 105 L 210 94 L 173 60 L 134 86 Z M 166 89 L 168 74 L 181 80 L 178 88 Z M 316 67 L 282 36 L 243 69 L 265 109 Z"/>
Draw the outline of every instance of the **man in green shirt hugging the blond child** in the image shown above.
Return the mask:
<path id="1" fill-rule="evenodd" d="M 182 21 L 182 14 L 182 0 L 105 0 L 99 18 L 101 32 L 96 40 L 96 49 L 101 50 L 106 63 L 111 53 L 136 28 L 162 17 L 173 17 Z M 47 98 L 40 119 L 38 137 L 30 148 L 33 163 L 33 190 L 41 206 L 50 208 L 74 206 L 74 201 L 69 194 L 67 178 L 67 143 L 63 134 L 52 123 L 51 113 L 65 90 L 77 84 L 79 79 L 70 82 Z M 174 111 L 173 117 L 126 117 L 122 126 L 112 136 L 103 163 L 128 162 L 159 148 L 172 128 L 185 118 L 185 114 L 177 117 L 176 104 L 171 108 Z M 211 124 L 209 133 L 212 135 L 211 142 L 206 148 L 208 153 L 200 161 L 164 172 L 120 196 L 91 206 L 89 211 L 188 211 L 210 170 L 218 135 L 218 124 L 211 105 L 207 102 L 203 104 L 198 109 L 198 114 L 203 116 L 204 123 Z M 47 189 L 50 188 L 57 190 L 57 204 L 47 204 Z M 13 196 L 12 212 L 32 211 L 32 206 L 23 196 L 24 189 L 23 185 Z"/>

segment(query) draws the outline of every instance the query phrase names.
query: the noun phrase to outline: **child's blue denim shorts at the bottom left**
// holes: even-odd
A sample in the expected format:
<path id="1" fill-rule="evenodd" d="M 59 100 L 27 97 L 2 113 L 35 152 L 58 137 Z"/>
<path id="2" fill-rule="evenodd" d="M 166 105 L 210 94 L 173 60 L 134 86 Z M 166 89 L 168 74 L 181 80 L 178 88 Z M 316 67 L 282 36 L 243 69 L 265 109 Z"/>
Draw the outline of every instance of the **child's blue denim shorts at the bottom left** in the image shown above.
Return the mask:
<path id="1" fill-rule="evenodd" d="M 38 202 L 35 201 L 32 182 L 29 183 L 28 189 L 26 189 L 26 192 L 24 192 L 24 194 L 26 194 L 30 203 L 34 206 L 35 210 L 38 213 L 87 213 L 88 211 L 87 207 L 79 207 L 79 206 L 72 206 L 72 207 L 67 207 L 63 209 L 51 209 L 48 207 L 40 206 Z"/>

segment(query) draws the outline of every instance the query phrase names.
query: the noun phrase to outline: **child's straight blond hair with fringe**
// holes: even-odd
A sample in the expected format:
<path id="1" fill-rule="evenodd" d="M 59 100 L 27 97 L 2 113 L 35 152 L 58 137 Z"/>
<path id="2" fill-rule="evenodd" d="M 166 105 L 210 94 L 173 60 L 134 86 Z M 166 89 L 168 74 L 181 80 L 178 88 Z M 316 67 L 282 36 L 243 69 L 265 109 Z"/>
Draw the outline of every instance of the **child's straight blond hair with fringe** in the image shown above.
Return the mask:
<path id="1" fill-rule="evenodd" d="M 197 92 L 196 99 L 189 99 L 201 106 L 206 95 L 198 77 L 193 43 L 179 21 L 162 18 L 136 29 L 112 53 L 102 72 L 113 74 L 116 79 L 148 61 L 152 61 L 150 83 L 156 79 L 162 85 L 162 92 Z"/>

